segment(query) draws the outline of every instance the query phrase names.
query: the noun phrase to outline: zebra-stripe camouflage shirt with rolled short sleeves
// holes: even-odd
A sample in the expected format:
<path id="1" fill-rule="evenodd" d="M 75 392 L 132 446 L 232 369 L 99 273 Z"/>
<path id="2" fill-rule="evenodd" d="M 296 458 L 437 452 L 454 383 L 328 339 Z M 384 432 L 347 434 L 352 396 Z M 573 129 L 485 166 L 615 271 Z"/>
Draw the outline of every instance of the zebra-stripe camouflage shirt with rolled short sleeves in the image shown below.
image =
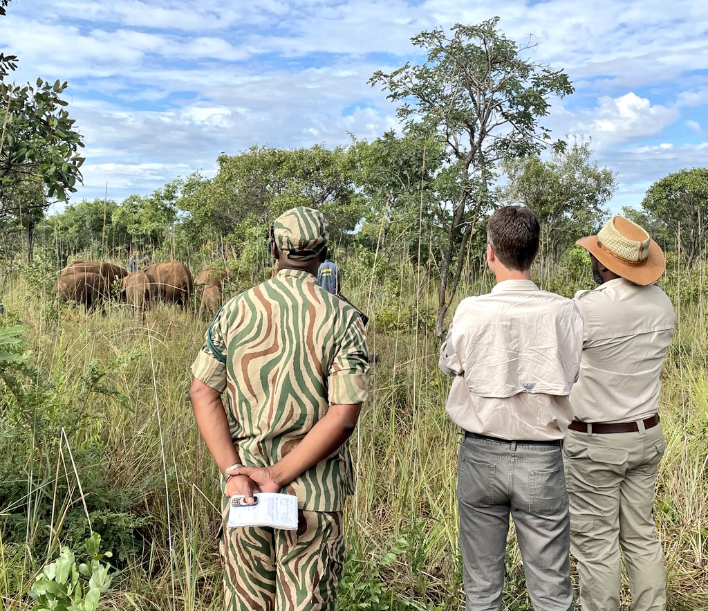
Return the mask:
<path id="1" fill-rule="evenodd" d="M 368 396 L 360 315 L 307 271 L 278 271 L 225 303 L 206 340 L 192 372 L 227 391 L 231 436 L 246 466 L 275 464 L 329 405 L 363 403 Z M 348 443 L 285 491 L 297 495 L 302 509 L 343 510 L 353 492 Z"/>

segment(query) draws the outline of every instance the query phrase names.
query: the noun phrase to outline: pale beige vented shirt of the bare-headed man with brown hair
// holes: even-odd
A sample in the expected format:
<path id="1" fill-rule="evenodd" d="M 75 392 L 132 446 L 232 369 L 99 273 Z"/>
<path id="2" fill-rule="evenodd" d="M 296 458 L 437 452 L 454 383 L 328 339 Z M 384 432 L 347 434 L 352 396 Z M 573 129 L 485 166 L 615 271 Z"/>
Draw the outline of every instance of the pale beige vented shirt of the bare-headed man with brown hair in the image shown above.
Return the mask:
<path id="1" fill-rule="evenodd" d="M 562 439 L 572 418 L 583 328 L 578 308 L 530 280 L 507 280 L 464 299 L 440 349 L 455 376 L 446 410 L 479 435 Z"/>

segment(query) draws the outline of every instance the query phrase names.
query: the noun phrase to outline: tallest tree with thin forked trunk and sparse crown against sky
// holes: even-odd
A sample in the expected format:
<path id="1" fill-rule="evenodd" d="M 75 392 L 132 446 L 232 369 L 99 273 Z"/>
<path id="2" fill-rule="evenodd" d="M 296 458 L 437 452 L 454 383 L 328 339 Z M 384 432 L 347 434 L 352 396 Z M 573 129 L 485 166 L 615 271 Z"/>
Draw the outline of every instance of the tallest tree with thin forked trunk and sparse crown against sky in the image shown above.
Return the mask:
<path id="1" fill-rule="evenodd" d="M 426 51 L 426 63 L 406 63 L 389 74 L 375 72 L 370 79 L 401 103 L 401 120 L 427 127 L 449 155 L 445 174 L 452 201 L 440 261 L 438 337 L 462 276 L 469 239 L 493 203 L 498 163 L 542 150 L 550 136 L 539 118 L 547 116 L 549 99 L 573 92 L 562 70 L 527 60 L 532 45 L 518 47 L 498 30 L 498 21 L 458 23 L 450 38 L 440 28 L 418 34 L 411 41 Z"/>

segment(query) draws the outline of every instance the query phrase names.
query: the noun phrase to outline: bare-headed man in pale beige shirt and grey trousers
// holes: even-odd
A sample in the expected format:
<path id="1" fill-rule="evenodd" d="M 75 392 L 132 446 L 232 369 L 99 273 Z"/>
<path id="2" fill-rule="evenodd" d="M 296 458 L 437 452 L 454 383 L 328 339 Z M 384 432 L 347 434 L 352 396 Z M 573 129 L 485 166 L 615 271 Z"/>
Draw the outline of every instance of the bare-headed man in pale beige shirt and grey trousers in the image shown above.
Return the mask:
<path id="1" fill-rule="evenodd" d="M 531 280 L 539 221 L 528 208 L 491 215 L 491 293 L 459 304 L 440 349 L 455 376 L 447 414 L 462 427 L 457 503 L 467 609 L 498 611 L 509 516 L 537 611 L 571 611 L 569 512 L 561 442 L 573 412 L 583 328 L 578 308 Z"/>

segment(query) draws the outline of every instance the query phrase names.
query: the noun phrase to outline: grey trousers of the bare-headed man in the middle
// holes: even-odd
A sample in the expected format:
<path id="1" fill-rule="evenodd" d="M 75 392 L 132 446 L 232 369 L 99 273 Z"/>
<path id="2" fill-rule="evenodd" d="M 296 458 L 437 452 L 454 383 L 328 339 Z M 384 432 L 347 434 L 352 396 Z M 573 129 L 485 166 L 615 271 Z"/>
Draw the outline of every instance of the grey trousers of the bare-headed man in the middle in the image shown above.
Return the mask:
<path id="1" fill-rule="evenodd" d="M 571 611 L 569 512 L 559 445 L 466 437 L 457 461 L 468 611 L 498 611 L 509 515 L 535 611 Z"/>

